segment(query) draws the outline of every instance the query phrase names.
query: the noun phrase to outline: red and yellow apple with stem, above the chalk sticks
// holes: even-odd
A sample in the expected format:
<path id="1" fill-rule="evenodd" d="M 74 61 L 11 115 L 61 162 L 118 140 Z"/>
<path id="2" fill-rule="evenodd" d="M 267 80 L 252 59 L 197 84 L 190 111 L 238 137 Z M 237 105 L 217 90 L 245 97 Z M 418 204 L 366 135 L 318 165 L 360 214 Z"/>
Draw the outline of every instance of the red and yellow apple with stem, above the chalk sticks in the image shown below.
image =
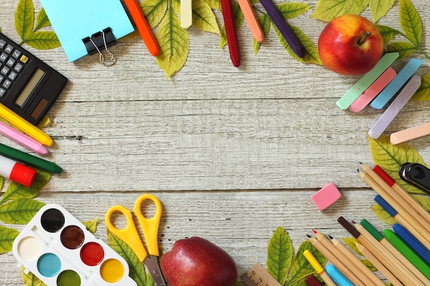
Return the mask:
<path id="1" fill-rule="evenodd" d="M 325 67 L 342 75 L 361 75 L 381 58 L 384 42 L 371 21 L 360 15 L 338 16 L 326 25 L 318 40 Z"/>

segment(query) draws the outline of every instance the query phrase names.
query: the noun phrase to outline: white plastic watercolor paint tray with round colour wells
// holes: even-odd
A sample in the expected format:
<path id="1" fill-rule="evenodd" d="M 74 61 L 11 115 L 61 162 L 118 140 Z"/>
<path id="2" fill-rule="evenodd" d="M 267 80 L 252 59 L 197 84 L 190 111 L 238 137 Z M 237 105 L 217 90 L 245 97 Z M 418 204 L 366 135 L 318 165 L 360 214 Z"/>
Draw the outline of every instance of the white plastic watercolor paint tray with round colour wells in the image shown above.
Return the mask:
<path id="1" fill-rule="evenodd" d="M 41 208 L 13 243 L 25 272 L 48 286 L 133 286 L 128 265 L 58 204 Z"/>

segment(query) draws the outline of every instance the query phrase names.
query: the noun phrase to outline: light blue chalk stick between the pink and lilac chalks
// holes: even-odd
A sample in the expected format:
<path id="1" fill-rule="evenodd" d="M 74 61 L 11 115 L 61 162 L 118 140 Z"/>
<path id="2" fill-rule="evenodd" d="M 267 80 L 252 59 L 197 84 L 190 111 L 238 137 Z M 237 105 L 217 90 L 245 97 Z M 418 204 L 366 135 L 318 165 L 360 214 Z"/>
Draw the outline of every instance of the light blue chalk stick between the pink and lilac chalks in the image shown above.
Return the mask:
<path id="1" fill-rule="evenodd" d="M 422 60 L 411 58 L 379 95 L 370 103 L 372 108 L 382 109 L 392 97 L 402 88 L 422 64 Z"/>

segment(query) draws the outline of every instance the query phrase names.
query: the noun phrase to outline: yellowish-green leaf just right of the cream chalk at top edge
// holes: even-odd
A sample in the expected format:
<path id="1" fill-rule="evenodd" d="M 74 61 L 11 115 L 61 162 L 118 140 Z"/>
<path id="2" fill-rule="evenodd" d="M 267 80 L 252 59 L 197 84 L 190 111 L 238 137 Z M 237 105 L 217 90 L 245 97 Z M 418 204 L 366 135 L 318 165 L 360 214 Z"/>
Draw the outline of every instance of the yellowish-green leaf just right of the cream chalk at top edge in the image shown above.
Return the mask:
<path id="1" fill-rule="evenodd" d="M 192 25 L 202 31 L 220 35 L 216 16 L 210 5 L 203 0 L 192 1 Z"/>

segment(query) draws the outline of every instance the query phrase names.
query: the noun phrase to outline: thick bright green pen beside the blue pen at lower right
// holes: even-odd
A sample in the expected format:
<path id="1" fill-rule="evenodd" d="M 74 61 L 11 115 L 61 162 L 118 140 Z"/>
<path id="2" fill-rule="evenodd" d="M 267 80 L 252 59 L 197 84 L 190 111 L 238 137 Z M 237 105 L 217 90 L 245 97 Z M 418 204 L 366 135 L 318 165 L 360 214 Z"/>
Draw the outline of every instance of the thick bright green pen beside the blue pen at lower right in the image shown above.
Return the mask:
<path id="1" fill-rule="evenodd" d="M 409 260 L 409 262 L 411 262 L 419 272 L 424 274 L 424 276 L 426 276 L 427 279 L 430 280 L 429 265 L 424 260 L 422 260 L 421 257 L 419 257 L 418 254 L 414 252 L 414 250 L 409 248 L 405 241 L 400 239 L 400 237 L 398 237 L 398 235 L 396 235 L 394 231 L 389 229 L 384 230 L 384 235 L 389 241 L 389 243 L 392 243 L 392 246 L 394 246 L 394 248 L 398 250 L 398 252 L 403 254 L 403 256 L 406 257 L 406 259 Z"/>

